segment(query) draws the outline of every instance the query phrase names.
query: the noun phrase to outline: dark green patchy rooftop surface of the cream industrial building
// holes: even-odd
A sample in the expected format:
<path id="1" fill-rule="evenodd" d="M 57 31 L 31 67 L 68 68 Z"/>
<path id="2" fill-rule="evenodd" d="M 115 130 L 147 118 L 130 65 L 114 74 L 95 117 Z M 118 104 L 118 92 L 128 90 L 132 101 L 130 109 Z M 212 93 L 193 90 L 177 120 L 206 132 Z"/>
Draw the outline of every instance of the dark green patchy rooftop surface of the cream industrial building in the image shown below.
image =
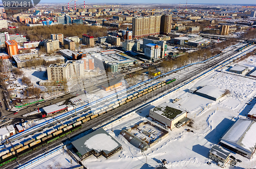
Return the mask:
<path id="1" fill-rule="evenodd" d="M 170 120 L 174 119 L 175 117 L 177 117 L 177 115 L 182 113 L 181 110 L 178 110 L 178 109 L 175 109 L 175 108 L 169 107 L 169 106 L 166 106 L 166 107 L 155 107 L 153 109 L 153 111 L 161 111 L 161 112 L 163 112 L 161 115 L 165 116 L 166 118 L 168 118 Z"/>

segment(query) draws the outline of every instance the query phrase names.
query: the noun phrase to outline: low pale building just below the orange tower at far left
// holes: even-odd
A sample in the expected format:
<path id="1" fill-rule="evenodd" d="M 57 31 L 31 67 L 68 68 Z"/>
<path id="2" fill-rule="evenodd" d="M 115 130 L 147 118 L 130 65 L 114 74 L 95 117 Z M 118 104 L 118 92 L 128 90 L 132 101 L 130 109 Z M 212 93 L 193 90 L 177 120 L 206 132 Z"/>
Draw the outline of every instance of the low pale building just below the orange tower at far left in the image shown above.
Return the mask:
<path id="1" fill-rule="evenodd" d="M 19 54 L 19 55 L 13 55 L 12 58 L 13 58 L 13 61 L 15 62 L 15 64 L 16 64 L 16 66 L 18 68 L 21 68 L 21 67 L 29 66 L 27 63 L 29 61 L 31 61 L 31 59 L 38 58 L 38 55 L 36 53 Z"/>

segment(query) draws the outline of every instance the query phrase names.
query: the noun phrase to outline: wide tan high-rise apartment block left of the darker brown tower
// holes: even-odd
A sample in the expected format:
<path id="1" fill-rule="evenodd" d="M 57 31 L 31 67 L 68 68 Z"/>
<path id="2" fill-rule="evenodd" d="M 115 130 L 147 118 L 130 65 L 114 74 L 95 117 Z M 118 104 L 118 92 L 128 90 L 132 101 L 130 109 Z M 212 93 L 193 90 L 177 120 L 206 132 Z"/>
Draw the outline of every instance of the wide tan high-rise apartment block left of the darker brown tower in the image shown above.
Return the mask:
<path id="1" fill-rule="evenodd" d="M 133 37 L 140 38 L 160 34 L 161 15 L 133 18 Z"/>

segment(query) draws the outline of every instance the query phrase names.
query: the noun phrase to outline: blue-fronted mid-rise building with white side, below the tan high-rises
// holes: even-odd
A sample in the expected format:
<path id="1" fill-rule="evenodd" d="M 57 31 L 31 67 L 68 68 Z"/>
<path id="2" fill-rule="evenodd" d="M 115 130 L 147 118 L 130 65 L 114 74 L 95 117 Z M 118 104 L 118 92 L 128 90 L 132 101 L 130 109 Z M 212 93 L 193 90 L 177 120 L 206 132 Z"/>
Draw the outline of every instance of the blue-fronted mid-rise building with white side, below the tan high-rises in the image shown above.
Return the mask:
<path id="1" fill-rule="evenodd" d="M 160 59 L 160 51 L 161 46 L 156 45 L 154 43 L 148 43 L 145 45 L 144 54 L 148 59 L 155 61 Z"/>

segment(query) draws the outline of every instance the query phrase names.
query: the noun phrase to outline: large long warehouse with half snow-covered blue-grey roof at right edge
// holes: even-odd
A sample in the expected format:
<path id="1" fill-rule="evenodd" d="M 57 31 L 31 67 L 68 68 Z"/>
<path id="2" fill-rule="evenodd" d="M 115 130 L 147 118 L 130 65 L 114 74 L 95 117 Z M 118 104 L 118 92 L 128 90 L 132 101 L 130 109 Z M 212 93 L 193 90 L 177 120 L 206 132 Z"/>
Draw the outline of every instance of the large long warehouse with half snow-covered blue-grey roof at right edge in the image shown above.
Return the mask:
<path id="1" fill-rule="evenodd" d="M 238 118 L 221 138 L 220 144 L 235 153 L 251 158 L 256 146 L 256 122 Z"/>

